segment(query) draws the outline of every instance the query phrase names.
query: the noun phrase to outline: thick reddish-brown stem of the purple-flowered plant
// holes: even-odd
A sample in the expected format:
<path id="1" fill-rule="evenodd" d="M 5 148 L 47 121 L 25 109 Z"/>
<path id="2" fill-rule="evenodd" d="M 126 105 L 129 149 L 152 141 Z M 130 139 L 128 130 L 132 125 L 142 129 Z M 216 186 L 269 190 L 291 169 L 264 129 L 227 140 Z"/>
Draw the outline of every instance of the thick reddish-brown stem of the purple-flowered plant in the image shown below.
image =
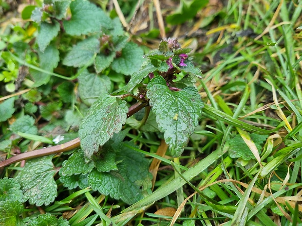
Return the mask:
<path id="1" fill-rule="evenodd" d="M 135 114 L 136 112 L 138 112 L 139 110 L 141 110 L 142 108 L 144 108 L 147 105 L 148 105 L 148 102 L 139 102 L 139 103 L 133 104 L 131 107 L 129 107 L 129 110 L 127 113 L 127 118 L 129 118 L 130 116 L 132 116 L 133 114 Z M 50 155 L 58 154 L 61 152 L 68 152 L 79 146 L 80 146 L 80 139 L 76 138 L 76 139 L 73 139 L 66 143 L 56 145 L 56 146 L 42 148 L 42 149 L 30 151 L 30 152 L 25 152 L 25 153 L 19 154 L 17 156 L 8 158 L 4 161 L 1 161 L 0 168 L 13 164 L 15 162 L 26 160 L 26 159 L 42 157 L 42 156 L 50 156 Z"/>

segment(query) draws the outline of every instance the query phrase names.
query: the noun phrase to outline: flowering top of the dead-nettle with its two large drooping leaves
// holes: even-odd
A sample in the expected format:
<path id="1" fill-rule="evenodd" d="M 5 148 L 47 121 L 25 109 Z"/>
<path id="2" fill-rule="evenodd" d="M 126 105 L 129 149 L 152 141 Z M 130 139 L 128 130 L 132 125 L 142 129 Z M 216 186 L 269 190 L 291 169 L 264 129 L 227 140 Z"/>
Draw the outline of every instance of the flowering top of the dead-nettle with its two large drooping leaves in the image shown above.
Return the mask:
<path id="1" fill-rule="evenodd" d="M 148 60 L 140 71 L 131 76 L 127 86 L 129 92 L 138 87 L 138 106 L 152 107 L 159 131 L 164 133 L 174 157 L 182 154 L 189 136 L 198 125 L 204 106 L 196 88 L 185 87 L 182 82 L 192 75 L 201 77 L 200 70 L 188 59 L 189 51 L 181 49 L 176 39 L 162 41 L 158 50 L 145 56 Z M 151 79 L 148 85 L 141 84 L 148 75 Z M 119 97 L 104 94 L 92 105 L 79 129 L 81 148 L 86 159 L 91 159 L 99 146 L 121 130 L 128 112 L 126 102 L 122 99 L 127 96 L 129 94 Z M 129 112 L 137 109 L 136 105 L 132 107 Z M 146 114 L 149 114 L 149 110 Z"/>

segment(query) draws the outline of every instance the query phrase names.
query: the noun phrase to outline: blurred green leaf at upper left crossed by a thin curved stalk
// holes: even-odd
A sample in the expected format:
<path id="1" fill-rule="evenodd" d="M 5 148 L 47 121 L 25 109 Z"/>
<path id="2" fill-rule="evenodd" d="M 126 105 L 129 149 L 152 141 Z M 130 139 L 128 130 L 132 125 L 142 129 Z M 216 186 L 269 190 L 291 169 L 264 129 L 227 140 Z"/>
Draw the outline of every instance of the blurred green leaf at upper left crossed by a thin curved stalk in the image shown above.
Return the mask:
<path id="1" fill-rule="evenodd" d="M 40 68 L 43 70 L 47 70 L 49 72 L 53 72 L 55 68 L 57 68 L 58 62 L 60 61 L 59 51 L 53 45 L 49 45 L 46 47 L 44 52 L 38 52 L 40 59 Z M 43 84 L 49 82 L 51 75 L 47 73 L 42 73 L 37 70 L 30 70 L 32 77 L 35 80 L 35 87 L 39 87 Z"/>

